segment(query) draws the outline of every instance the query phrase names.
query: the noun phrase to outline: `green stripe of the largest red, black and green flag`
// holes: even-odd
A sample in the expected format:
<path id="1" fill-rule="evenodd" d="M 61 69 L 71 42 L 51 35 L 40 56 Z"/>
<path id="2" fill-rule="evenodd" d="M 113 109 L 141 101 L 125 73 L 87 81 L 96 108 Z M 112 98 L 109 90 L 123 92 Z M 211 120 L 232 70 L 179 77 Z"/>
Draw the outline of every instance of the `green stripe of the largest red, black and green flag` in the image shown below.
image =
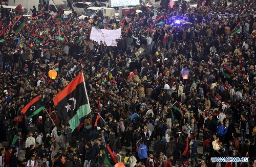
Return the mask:
<path id="1" fill-rule="evenodd" d="M 76 114 L 69 120 L 70 128 L 72 132 L 80 125 L 80 118 L 88 115 L 90 113 L 90 106 L 89 104 L 84 104 L 78 108 Z"/>

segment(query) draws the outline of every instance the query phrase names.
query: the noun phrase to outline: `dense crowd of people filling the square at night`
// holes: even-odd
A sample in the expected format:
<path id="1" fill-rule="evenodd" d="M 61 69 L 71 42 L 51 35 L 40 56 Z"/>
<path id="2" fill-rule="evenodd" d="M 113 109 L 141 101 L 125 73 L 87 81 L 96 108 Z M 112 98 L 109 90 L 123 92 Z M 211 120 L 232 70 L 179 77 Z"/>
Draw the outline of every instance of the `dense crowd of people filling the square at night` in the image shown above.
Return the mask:
<path id="1" fill-rule="evenodd" d="M 162 1 L 156 12 L 141 4 L 141 13 L 120 21 L 55 21 L 46 9 L 18 34 L 7 31 L 0 43 L 0 142 L 7 145 L 0 166 L 101 167 L 112 158 L 106 147 L 130 167 L 256 166 L 256 2 L 197 3 Z M 12 23 L 15 13 L 4 15 L 5 25 Z M 117 46 L 90 40 L 92 27 L 121 27 Z M 49 78 L 56 68 L 57 78 Z M 74 130 L 53 99 L 81 70 L 91 114 Z M 36 96 L 47 110 L 28 120 L 22 109 Z M 95 125 L 98 114 L 103 121 Z M 18 159 L 24 144 L 26 158 Z"/>

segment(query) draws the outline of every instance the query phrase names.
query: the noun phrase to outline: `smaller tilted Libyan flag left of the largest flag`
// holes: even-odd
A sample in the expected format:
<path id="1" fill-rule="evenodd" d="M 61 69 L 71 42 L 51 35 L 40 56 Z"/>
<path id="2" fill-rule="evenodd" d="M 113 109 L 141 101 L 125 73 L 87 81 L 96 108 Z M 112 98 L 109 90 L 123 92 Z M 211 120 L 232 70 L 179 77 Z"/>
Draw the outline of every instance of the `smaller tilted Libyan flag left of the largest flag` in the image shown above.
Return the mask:
<path id="1" fill-rule="evenodd" d="M 45 106 L 42 104 L 39 97 L 35 97 L 32 99 L 23 109 L 22 113 L 27 115 L 28 120 L 36 114 L 38 114 L 41 110 L 44 110 Z"/>

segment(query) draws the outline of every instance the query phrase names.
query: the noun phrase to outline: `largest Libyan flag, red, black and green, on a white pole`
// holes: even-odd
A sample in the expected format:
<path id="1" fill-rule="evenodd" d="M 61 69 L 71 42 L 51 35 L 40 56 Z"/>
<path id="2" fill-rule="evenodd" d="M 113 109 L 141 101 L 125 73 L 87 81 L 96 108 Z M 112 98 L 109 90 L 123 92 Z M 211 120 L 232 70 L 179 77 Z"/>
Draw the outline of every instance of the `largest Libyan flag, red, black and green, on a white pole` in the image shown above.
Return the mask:
<path id="1" fill-rule="evenodd" d="M 53 100 L 63 122 L 69 120 L 72 131 L 80 124 L 80 118 L 91 112 L 82 73 L 60 91 Z"/>

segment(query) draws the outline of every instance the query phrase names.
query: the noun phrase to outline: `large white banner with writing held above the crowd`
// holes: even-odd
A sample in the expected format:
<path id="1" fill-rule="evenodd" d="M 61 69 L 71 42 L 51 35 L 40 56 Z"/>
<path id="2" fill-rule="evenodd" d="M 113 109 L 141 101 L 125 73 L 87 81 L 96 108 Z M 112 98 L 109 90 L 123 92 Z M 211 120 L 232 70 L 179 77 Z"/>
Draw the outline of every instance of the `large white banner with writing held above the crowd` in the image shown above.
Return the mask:
<path id="1" fill-rule="evenodd" d="M 116 46 L 116 39 L 121 37 L 121 28 L 117 30 L 105 30 L 105 29 L 95 29 L 92 27 L 90 39 L 97 41 L 106 42 L 108 46 Z"/>

